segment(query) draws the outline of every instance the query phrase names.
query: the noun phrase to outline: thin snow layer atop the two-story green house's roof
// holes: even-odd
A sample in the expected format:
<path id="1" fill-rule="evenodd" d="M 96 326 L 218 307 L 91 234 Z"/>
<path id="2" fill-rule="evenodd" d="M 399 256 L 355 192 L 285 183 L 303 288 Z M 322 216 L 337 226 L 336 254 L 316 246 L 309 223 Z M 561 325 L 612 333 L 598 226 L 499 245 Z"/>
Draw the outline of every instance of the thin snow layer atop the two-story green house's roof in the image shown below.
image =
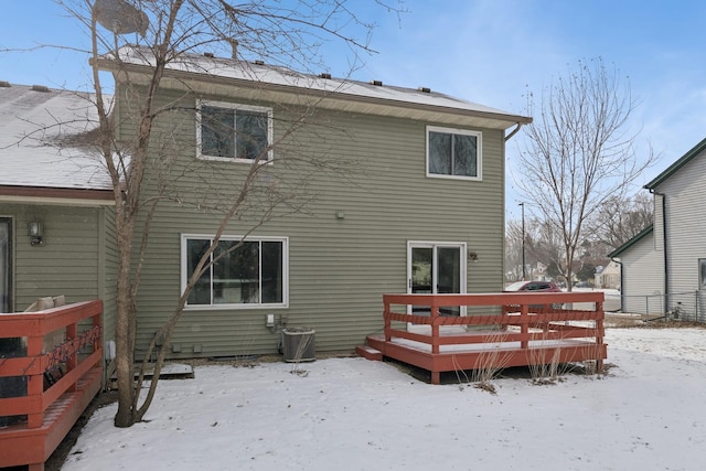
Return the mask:
<path id="1" fill-rule="evenodd" d="M 118 51 L 120 61 L 131 65 L 154 66 L 154 56 L 145 47 L 124 46 Z M 109 56 L 104 57 L 110 60 Z M 530 122 L 527 117 L 516 116 L 489 106 L 466 101 L 429 88 L 405 88 L 384 85 L 382 82 L 371 83 L 331 77 L 329 74 L 302 74 L 282 66 L 265 65 L 256 62 L 218 58 L 197 54 L 182 54 L 171 61 L 168 68 L 179 72 L 207 74 L 222 78 L 257 82 L 275 86 L 293 87 L 313 92 L 331 93 L 361 100 L 382 100 L 391 105 L 417 105 L 468 111 L 474 114 L 496 115 L 503 120 Z"/>

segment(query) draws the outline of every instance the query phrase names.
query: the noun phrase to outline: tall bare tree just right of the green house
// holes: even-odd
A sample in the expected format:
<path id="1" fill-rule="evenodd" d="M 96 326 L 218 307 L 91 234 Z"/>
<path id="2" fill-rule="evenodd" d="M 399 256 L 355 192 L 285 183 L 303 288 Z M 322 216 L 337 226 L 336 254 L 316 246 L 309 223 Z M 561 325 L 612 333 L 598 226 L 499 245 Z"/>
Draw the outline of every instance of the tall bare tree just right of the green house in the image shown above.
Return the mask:
<path id="1" fill-rule="evenodd" d="M 655 158 L 635 156 L 637 135 L 628 129 L 635 101 L 629 84 L 600 58 L 579 61 L 543 89 L 538 105 L 534 99 L 527 95 L 534 120 L 516 184 L 531 212 L 558 234 L 555 261 L 570 287 L 587 222 L 607 201 L 622 197 Z"/>

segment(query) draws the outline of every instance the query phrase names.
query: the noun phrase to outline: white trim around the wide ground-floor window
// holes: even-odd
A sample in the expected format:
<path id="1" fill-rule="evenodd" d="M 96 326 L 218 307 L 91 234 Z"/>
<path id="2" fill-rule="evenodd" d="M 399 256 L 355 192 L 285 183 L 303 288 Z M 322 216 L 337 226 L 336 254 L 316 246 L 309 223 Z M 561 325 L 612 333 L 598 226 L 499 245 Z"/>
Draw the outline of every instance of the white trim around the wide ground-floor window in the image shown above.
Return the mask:
<path id="1" fill-rule="evenodd" d="M 189 267 L 186 264 L 186 240 L 192 238 L 200 239 L 213 239 L 213 234 L 182 234 L 181 235 L 181 291 L 186 289 L 186 282 L 189 277 Z M 272 236 L 237 236 L 228 235 L 222 236 L 221 240 L 240 240 L 246 242 L 281 242 L 282 243 L 282 302 L 279 303 L 252 303 L 252 304 L 189 304 L 184 306 L 184 310 L 188 311 L 223 311 L 223 310 L 249 310 L 249 309 L 284 309 L 289 308 L 289 237 L 272 237 Z"/>

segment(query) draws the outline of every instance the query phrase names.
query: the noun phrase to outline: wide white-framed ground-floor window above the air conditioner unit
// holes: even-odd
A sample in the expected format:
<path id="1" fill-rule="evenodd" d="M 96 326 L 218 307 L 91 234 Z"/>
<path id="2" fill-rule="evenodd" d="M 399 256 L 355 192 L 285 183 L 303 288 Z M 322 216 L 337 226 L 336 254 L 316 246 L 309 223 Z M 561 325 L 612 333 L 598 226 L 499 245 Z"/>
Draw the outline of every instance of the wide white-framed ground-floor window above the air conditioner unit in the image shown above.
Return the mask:
<path id="1" fill-rule="evenodd" d="M 182 235 L 182 291 L 213 237 Z M 189 295 L 191 308 L 286 308 L 289 303 L 289 239 L 228 236 L 218 240 L 211 266 Z"/>

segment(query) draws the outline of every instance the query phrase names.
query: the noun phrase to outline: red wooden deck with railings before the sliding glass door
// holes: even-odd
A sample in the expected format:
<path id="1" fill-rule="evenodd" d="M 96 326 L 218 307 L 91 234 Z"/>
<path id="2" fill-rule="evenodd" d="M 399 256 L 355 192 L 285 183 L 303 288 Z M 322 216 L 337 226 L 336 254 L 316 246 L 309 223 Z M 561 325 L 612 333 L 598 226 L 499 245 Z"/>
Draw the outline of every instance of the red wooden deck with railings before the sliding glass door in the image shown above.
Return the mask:
<path id="1" fill-rule="evenodd" d="M 432 384 L 462 370 L 593 361 L 601 371 L 607 357 L 602 292 L 384 295 L 383 302 L 384 334 L 356 352 L 428 370 Z M 468 314 L 440 314 L 450 307 Z M 429 314 L 411 314 L 419 311 Z"/>

